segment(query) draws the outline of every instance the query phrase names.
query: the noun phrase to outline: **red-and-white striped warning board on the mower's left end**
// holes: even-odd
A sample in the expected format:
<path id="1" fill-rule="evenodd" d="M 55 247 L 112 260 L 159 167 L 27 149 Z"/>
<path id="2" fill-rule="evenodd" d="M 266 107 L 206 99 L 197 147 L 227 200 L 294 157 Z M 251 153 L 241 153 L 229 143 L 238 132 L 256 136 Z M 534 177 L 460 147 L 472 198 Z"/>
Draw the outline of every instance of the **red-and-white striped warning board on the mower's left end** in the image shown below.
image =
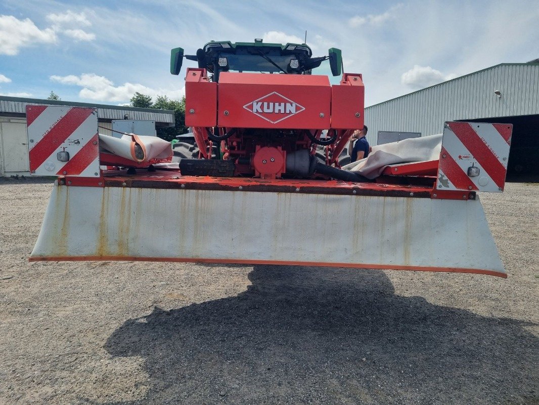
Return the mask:
<path id="1" fill-rule="evenodd" d="M 30 173 L 99 176 L 98 114 L 89 107 L 27 105 Z"/>

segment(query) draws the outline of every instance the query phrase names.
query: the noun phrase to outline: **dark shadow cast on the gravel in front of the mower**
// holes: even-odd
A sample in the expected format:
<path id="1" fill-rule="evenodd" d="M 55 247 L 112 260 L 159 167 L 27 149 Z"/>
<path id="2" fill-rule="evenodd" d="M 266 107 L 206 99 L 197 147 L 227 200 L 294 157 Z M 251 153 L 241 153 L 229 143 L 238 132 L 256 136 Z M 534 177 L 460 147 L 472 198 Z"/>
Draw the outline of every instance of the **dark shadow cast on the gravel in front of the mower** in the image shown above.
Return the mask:
<path id="1" fill-rule="evenodd" d="M 128 320 L 141 403 L 537 403 L 537 338 L 394 294 L 382 272 L 255 266 L 246 292 Z"/>

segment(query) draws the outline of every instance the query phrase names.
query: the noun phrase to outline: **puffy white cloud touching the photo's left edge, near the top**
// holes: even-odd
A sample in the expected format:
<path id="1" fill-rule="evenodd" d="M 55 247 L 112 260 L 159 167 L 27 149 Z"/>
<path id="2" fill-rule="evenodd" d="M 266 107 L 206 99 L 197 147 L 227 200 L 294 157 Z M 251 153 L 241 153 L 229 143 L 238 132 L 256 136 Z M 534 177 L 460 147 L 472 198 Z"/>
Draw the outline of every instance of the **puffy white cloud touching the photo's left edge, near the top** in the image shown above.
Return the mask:
<path id="1" fill-rule="evenodd" d="M 17 55 L 24 46 L 56 43 L 52 28 L 40 30 L 30 18 L 0 16 L 0 55 Z"/>

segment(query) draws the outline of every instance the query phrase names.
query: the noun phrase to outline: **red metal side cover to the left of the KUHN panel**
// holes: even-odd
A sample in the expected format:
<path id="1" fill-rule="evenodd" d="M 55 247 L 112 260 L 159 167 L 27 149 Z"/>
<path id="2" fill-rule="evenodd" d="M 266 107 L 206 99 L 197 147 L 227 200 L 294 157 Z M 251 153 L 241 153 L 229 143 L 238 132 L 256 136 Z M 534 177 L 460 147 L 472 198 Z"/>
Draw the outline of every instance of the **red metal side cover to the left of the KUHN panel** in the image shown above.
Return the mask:
<path id="1" fill-rule="evenodd" d="M 185 76 L 185 125 L 217 125 L 217 83 L 206 69 L 189 68 Z"/>

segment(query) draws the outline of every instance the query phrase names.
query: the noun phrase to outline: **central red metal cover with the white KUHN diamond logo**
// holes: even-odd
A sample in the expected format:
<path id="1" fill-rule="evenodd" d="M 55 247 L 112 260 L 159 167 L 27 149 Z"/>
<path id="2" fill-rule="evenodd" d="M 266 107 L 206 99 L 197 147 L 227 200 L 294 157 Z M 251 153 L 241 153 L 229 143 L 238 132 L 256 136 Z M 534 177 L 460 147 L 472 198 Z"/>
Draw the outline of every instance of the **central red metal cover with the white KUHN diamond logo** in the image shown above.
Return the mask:
<path id="1" fill-rule="evenodd" d="M 327 76 L 223 72 L 218 84 L 218 125 L 327 129 L 330 102 Z"/>

